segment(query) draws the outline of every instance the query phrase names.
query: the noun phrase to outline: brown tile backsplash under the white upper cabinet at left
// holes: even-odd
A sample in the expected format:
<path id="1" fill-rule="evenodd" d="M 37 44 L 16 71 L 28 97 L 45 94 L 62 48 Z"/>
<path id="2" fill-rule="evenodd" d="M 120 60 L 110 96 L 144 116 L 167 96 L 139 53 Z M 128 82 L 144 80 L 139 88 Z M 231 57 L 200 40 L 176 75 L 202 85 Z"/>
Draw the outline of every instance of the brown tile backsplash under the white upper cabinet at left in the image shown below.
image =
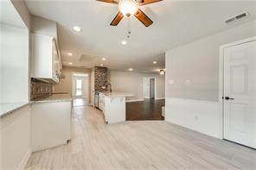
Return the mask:
<path id="1" fill-rule="evenodd" d="M 37 79 L 31 79 L 30 83 L 30 99 L 48 97 L 52 95 L 52 84 Z"/>

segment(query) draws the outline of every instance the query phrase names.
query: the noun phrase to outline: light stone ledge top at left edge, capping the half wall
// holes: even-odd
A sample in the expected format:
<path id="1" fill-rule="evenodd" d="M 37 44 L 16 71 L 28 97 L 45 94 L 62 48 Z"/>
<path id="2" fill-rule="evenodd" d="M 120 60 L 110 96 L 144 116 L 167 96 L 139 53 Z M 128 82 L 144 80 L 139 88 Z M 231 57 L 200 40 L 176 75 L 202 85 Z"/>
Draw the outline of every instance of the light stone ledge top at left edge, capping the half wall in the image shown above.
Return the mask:
<path id="1" fill-rule="evenodd" d="M 16 110 L 20 110 L 31 102 L 19 102 L 19 103 L 3 103 L 0 104 L 0 118 L 8 116 Z"/>

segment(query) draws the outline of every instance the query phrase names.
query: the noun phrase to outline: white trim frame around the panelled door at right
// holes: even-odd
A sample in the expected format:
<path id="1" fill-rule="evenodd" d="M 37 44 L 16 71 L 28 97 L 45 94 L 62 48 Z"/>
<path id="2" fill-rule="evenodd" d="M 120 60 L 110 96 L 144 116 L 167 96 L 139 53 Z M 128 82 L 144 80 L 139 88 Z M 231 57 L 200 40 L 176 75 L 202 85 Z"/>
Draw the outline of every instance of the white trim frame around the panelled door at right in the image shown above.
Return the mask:
<path id="1" fill-rule="evenodd" d="M 247 42 L 256 41 L 256 36 L 246 38 L 240 41 L 234 41 L 220 47 L 219 54 L 219 103 L 221 105 L 221 130 L 222 130 L 222 139 L 224 139 L 224 100 L 222 99 L 224 95 L 224 50 L 227 47 L 233 47 L 240 44 L 245 44 Z"/>

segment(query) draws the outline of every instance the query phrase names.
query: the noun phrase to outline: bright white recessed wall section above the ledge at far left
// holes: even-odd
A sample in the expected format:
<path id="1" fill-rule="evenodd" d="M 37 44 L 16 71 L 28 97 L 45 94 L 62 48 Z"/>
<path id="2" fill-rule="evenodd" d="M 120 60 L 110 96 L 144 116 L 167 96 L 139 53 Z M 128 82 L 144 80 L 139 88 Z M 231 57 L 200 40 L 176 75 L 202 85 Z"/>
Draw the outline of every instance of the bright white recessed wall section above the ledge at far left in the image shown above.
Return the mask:
<path id="1" fill-rule="evenodd" d="M 1 27 L 1 103 L 29 101 L 29 29 Z"/>

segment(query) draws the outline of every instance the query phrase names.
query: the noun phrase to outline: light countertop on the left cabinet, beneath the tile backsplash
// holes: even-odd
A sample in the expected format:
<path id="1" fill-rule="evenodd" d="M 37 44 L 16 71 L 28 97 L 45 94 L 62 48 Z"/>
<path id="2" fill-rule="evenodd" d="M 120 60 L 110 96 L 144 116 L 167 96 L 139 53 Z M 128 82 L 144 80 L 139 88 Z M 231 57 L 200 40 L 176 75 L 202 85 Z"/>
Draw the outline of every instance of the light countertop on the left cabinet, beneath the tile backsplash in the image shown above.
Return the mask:
<path id="1" fill-rule="evenodd" d="M 34 103 L 48 103 L 48 102 L 69 102 L 72 98 L 69 94 L 53 94 L 47 98 L 38 98 Z"/>

